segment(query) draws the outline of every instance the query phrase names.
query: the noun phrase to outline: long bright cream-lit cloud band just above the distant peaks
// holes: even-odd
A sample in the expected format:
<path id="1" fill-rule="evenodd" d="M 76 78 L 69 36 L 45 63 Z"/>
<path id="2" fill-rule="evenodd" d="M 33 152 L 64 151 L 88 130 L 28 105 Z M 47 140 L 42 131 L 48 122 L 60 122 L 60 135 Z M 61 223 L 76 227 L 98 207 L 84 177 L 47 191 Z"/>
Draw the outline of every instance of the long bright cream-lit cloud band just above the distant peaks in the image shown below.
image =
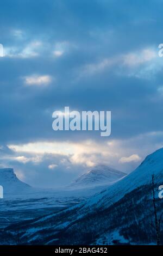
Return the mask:
<path id="1" fill-rule="evenodd" d="M 35 142 L 23 145 L 8 145 L 8 148 L 15 153 L 28 154 L 54 154 L 59 155 L 62 164 L 80 165 L 87 167 L 95 166 L 102 161 L 109 162 L 109 156 L 116 156 L 117 153 L 112 153 L 107 143 L 101 144 L 95 141 L 84 142 Z M 69 161 L 65 159 L 68 157 Z M 42 156 L 43 158 L 43 156 Z"/>

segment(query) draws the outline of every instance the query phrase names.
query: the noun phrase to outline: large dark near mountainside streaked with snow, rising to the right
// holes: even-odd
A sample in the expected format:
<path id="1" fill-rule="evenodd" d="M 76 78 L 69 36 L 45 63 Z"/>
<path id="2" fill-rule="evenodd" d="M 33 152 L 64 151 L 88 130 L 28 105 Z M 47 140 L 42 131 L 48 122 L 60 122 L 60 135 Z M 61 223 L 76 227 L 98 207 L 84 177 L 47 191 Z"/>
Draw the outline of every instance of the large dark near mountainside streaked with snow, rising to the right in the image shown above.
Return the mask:
<path id="1" fill-rule="evenodd" d="M 154 244 L 154 224 L 149 224 L 154 223 L 152 174 L 155 174 L 156 208 L 160 216 L 163 200 L 157 193 L 163 184 L 163 148 L 147 156 L 134 172 L 86 202 L 58 214 L 12 225 L 5 236 L 11 237 L 18 229 L 21 241 L 28 245 Z M 163 237 L 162 222 L 160 228 Z M 10 243 L 14 243 L 14 237 Z"/>

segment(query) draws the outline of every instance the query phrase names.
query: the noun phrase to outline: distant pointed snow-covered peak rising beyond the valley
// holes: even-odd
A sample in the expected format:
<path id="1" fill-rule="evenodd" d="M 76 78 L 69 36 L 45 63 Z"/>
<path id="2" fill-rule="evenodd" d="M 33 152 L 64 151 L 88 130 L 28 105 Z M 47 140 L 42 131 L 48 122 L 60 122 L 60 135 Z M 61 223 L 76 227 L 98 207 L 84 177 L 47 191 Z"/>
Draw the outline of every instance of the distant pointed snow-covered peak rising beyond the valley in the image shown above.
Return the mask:
<path id="1" fill-rule="evenodd" d="M 71 184 L 71 187 L 80 188 L 109 184 L 121 179 L 126 175 L 126 173 L 101 164 L 93 167 L 91 170 L 88 170 L 88 172 L 79 176 L 79 178 Z"/>

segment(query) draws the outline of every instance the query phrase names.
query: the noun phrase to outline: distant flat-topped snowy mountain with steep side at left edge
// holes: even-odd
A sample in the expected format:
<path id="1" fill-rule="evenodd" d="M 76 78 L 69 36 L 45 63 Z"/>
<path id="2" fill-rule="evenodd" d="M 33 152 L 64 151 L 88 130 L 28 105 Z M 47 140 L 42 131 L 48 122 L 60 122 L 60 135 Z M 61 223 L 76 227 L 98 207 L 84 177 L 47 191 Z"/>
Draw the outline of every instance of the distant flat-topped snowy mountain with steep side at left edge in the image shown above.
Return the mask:
<path id="1" fill-rule="evenodd" d="M 0 169 L 0 185 L 4 195 L 8 193 L 23 193 L 30 190 L 30 186 L 20 181 L 12 168 Z"/>

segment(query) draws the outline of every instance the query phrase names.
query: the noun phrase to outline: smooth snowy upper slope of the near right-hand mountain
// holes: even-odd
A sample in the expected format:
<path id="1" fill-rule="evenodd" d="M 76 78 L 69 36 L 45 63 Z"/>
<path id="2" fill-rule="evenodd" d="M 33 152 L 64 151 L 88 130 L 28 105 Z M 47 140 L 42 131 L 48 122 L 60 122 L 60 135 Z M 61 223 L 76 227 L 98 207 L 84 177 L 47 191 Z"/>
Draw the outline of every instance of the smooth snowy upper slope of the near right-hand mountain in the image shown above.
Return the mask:
<path id="1" fill-rule="evenodd" d="M 163 184 L 163 148 L 148 155 L 139 167 L 116 182 L 116 184 L 111 185 L 107 190 L 88 200 L 84 208 L 90 208 L 93 205 L 96 205 L 96 208 L 108 207 L 135 188 L 151 184 L 152 174 L 155 174 L 156 181 L 162 181 Z"/>

